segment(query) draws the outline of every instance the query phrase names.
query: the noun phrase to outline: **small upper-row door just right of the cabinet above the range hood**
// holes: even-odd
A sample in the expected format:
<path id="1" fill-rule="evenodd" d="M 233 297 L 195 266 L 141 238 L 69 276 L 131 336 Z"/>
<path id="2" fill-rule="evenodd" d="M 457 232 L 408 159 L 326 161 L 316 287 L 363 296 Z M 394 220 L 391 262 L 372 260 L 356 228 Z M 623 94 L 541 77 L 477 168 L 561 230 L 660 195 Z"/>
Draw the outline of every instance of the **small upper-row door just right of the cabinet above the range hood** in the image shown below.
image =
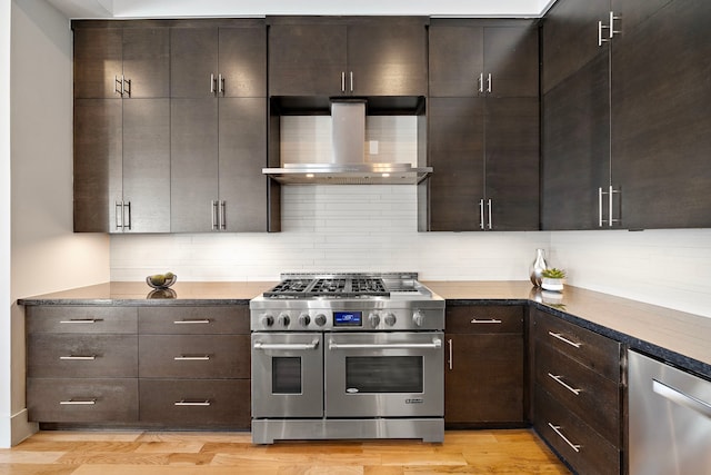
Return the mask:
<path id="1" fill-rule="evenodd" d="M 484 71 L 483 28 L 461 23 L 430 26 L 430 97 L 474 97 Z"/>

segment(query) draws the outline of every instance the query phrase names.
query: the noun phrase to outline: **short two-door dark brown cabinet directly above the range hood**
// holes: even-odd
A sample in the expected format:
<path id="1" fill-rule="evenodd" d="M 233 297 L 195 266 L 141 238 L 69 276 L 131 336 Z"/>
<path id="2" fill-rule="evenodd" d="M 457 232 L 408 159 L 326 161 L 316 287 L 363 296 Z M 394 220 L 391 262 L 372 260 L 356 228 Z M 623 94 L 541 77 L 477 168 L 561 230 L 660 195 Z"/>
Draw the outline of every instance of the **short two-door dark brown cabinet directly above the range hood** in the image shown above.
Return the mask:
<path id="1" fill-rule="evenodd" d="M 274 17 L 268 22 L 270 96 L 427 96 L 424 18 Z"/>

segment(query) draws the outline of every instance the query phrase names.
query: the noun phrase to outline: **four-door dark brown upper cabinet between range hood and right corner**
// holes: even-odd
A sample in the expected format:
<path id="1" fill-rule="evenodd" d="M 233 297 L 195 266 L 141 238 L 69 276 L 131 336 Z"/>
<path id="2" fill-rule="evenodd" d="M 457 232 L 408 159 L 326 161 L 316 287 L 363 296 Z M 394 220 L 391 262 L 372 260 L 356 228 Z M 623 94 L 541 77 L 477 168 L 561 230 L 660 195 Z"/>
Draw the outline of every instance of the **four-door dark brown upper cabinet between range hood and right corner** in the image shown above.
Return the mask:
<path id="1" fill-rule="evenodd" d="M 438 19 L 429 44 L 434 172 L 420 230 L 539 229 L 537 24 Z"/>

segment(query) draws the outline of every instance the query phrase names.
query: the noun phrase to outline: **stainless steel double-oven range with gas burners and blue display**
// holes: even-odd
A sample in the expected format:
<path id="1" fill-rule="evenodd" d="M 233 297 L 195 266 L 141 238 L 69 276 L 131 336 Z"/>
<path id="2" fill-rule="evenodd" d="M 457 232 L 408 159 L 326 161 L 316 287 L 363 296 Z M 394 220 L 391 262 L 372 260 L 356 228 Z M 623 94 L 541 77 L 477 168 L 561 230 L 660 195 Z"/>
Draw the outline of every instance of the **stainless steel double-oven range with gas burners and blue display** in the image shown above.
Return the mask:
<path id="1" fill-rule="evenodd" d="M 444 300 L 417 273 L 283 274 L 250 301 L 252 441 L 444 438 Z"/>

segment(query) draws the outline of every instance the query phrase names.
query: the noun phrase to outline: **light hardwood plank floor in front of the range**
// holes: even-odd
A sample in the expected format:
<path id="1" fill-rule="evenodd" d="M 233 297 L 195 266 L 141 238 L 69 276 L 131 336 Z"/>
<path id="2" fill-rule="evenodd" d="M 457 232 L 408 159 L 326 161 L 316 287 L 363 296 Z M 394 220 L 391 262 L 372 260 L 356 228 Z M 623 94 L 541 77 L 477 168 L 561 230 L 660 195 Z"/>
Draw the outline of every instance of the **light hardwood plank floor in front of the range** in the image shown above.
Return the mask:
<path id="1" fill-rule="evenodd" d="M 249 433 L 40 432 L 0 449 L 0 474 L 569 474 L 531 431 L 447 432 L 417 441 L 252 445 Z"/>

